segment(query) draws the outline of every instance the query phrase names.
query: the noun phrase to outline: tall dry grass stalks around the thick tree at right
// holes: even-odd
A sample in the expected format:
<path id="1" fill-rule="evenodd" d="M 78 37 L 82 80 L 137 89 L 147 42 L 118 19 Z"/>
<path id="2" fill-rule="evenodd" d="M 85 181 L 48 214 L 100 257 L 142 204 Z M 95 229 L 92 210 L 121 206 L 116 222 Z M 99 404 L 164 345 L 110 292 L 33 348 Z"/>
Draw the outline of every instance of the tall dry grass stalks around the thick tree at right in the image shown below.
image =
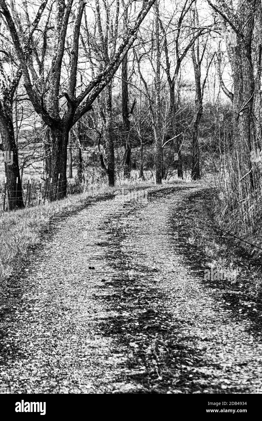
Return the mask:
<path id="1" fill-rule="evenodd" d="M 236 140 L 235 140 L 236 142 Z M 230 133 L 219 140 L 219 163 L 214 162 L 214 181 L 217 187 L 214 214 L 221 226 L 242 242 L 251 255 L 260 257 L 262 250 L 262 160 L 254 162 L 251 151 L 257 144 L 236 144 Z M 252 181 L 253 180 L 253 181 Z M 250 244 L 248 244 L 248 242 Z"/>

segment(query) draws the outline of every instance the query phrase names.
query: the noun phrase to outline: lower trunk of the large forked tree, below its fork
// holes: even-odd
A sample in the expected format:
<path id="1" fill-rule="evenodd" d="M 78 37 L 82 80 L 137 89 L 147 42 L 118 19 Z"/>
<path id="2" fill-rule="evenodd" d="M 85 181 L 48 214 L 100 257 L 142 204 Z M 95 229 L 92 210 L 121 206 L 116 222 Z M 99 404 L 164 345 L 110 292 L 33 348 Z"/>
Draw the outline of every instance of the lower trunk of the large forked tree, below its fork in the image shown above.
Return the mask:
<path id="1" fill-rule="evenodd" d="M 52 189 L 50 200 L 56 200 L 58 175 L 59 189 L 58 199 L 66 197 L 66 163 L 67 163 L 67 144 L 69 130 L 68 128 L 54 129 L 50 128 L 50 138 L 52 142 Z"/>

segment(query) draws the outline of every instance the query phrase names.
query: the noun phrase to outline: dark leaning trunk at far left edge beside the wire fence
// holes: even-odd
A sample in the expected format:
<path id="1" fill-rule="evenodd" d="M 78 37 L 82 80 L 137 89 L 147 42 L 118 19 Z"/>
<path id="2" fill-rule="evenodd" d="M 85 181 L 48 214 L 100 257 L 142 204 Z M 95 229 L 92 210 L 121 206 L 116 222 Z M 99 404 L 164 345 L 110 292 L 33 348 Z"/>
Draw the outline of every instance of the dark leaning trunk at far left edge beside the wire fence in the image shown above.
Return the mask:
<path id="1" fill-rule="evenodd" d="M 12 104 L 9 104 L 9 109 L 12 110 Z M 13 115 L 12 112 L 5 110 L 4 113 L 0 113 L 0 133 L 3 142 L 3 151 L 6 151 L 7 154 L 13 152 L 13 163 L 12 160 L 8 165 L 8 162 L 5 162 L 5 176 L 6 176 L 6 188 L 8 190 L 9 197 L 9 210 L 15 208 L 24 208 L 23 202 L 23 193 L 22 185 L 19 171 L 18 163 L 18 152 L 16 148 L 15 134 L 13 129 Z M 18 179 L 17 184 L 17 197 L 16 197 L 16 179 Z"/>

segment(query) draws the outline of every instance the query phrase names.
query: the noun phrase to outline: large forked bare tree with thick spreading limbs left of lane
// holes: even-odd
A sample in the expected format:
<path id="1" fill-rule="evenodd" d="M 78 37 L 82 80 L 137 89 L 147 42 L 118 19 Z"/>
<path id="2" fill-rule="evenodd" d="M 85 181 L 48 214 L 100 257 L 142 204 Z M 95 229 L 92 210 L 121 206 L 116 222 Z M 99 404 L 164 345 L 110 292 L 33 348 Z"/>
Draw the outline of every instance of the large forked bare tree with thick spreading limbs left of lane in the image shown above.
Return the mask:
<path id="1" fill-rule="evenodd" d="M 84 1 L 79 1 L 76 17 L 74 19 L 71 51 L 69 51 L 71 62 L 69 80 L 67 83 L 67 89 L 61 93 L 61 67 L 63 63 L 66 32 L 69 27 L 69 16 L 73 0 L 69 0 L 67 4 L 65 4 L 64 0 L 57 0 L 56 2 L 54 51 L 48 75 L 48 92 L 40 93 L 37 85 L 33 83 L 32 78 L 30 77 L 30 67 L 27 62 L 26 50 L 21 45 L 16 24 L 11 12 L 8 9 L 6 2 L 4 0 L 0 0 L 1 13 L 5 16 L 13 44 L 16 48 L 16 53 L 21 63 L 24 85 L 27 94 L 35 111 L 41 115 L 42 120 L 50 127 L 50 138 L 52 142 L 52 177 L 53 180 L 57 181 L 58 174 L 60 173 L 61 183 L 59 186 L 59 197 L 64 197 L 66 195 L 66 148 L 68 144 L 69 130 L 79 120 L 79 118 L 82 117 L 82 115 L 92 108 L 93 101 L 111 81 L 114 73 L 122 62 L 123 57 L 134 42 L 135 34 L 141 22 L 154 2 L 155 0 L 143 2 L 143 8 L 138 13 L 135 24 L 128 31 L 122 43 L 120 43 L 119 48 L 111 58 L 110 63 L 107 64 L 95 78 L 87 83 L 86 88 L 77 96 L 76 86 L 78 74 L 77 65 L 79 58 L 79 35 L 82 14 L 85 8 Z M 29 45 L 27 46 L 27 49 L 29 49 Z M 44 106 L 44 96 L 46 106 Z M 64 115 L 61 117 L 60 113 L 62 110 L 60 107 L 60 99 L 63 97 L 66 99 L 66 104 L 64 104 Z M 111 149 L 109 156 L 112 158 Z M 111 162 L 110 165 L 113 165 L 113 162 Z M 109 168 L 109 171 L 114 171 L 114 168 Z"/>

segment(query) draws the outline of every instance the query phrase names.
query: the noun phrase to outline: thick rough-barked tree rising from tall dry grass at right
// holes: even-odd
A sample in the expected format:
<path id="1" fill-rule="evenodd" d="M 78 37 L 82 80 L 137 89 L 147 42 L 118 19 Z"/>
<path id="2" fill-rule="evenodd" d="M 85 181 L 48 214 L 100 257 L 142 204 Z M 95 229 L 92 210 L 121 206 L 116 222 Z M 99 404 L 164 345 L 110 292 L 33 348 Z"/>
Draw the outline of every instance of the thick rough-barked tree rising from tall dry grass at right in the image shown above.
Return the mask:
<path id="1" fill-rule="evenodd" d="M 252 40 L 254 20 L 261 2 L 245 0 L 219 4 L 207 0 L 218 13 L 225 34 L 228 56 L 233 75 L 233 111 L 235 120 L 234 146 L 239 153 L 241 175 L 249 174 L 254 186 L 250 160 L 252 147 L 252 110 L 254 104 L 254 71 L 252 63 Z"/>

